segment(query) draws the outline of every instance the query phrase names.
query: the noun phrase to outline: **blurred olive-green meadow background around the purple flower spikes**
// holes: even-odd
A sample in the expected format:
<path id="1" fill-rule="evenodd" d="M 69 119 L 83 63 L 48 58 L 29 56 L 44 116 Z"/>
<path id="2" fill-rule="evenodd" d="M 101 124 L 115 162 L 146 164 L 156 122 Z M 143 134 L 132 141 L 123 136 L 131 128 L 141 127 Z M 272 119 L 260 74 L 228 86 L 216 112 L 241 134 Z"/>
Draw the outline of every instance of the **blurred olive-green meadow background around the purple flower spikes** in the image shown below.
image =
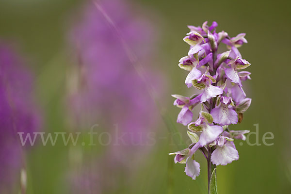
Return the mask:
<path id="1" fill-rule="evenodd" d="M 178 68 L 178 60 L 188 51 L 182 41 L 188 32 L 187 25 L 202 25 L 206 20 L 217 21 L 218 31 L 230 36 L 245 32 L 248 44 L 240 49 L 243 58 L 252 65 L 252 80 L 245 91 L 252 98 L 250 109 L 244 114 L 242 124 L 232 129 L 250 129 L 259 124 L 259 143 L 265 132 L 274 133 L 273 146 L 239 145 L 240 160 L 218 166 L 218 192 L 220 194 L 290 194 L 291 182 L 291 84 L 290 84 L 290 1 L 285 0 L 131 0 L 157 27 L 160 35 L 159 53 L 163 73 L 167 77 L 168 93 L 165 109 L 173 124 L 179 110 L 172 106 L 170 94 L 189 94 L 182 84 L 186 72 Z M 0 39 L 12 40 L 22 50 L 30 68 L 36 75 L 35 95 L 45 115 L 45 130 L 65 129 L 63 96 L 65 68 L 68 55 L 66 31 L 69 16 L 74 15 L 82 2 L 78 0 L 0 0 Z M 135 10 L 132 10 L 135 12 Z M 151 14 L 154 13 L 154 14 Z M 168 130 L 161 124 L 161 134 Z M 168 136 L 170 138 L 170 136 Z M 185 137 L 186 140 L 186 137 Z M 184 165 L 173 163 L 168 152 L 178 150 L 161 139 L 132 185 L 119 193 L 124 194 L 203 194 L 207 183 L 206 161 L 198 154 L 201 174 L 196 181 L 184 173 Z M 256 138 L 251 136 L 250 142 Z M 67 193 L 68 148 L 62 145 L 38 146 L 27 156 L 28 193 Z"/>

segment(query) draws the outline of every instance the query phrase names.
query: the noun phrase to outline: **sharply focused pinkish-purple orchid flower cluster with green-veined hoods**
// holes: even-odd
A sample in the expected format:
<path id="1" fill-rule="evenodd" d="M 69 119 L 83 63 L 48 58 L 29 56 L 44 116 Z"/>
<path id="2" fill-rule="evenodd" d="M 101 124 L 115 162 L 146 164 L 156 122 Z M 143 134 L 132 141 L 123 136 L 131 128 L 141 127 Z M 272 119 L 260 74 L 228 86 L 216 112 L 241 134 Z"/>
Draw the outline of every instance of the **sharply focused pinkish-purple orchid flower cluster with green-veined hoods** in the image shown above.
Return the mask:
<path id="1" fill-rule="evenodd" d="M 217 23 L 207 21 L 202 28 L 188 26 L 190 32 L 183 40 L 190 45 L 188 55 L 179 60 L 179 67 L 189 71 L 185 84 L 197 89 L 192 97 L 172 95 L 174 105 L 181 108 L 177 122 L 187 126 L 192 144 L 181 151 L 170 153 L 175 163 L 186 163 L 186 175 L 195 179 L 200 165 L 194 153 L 200 149 L 212 165 L 226 165 L 239 159 L 234 139 L 245 140 L 248 130 L 229 130 L 229 125 L 242 121 L 242 114 L 249 108 L 251 99 L 242 89 L 242 81 L 250 79 L 250 72 L 239 71 L 250 63 L 242 59 L 238 48 L 247 43 L 245 34 L 229 37 L 224 31 L 216 32 Z M 221 51 L 218 46 L 226 45 Z M 193 109 L 201 104 L 198 119 L 193 122 Z M 198 136 L 197 134 L 200 134 Z"/>

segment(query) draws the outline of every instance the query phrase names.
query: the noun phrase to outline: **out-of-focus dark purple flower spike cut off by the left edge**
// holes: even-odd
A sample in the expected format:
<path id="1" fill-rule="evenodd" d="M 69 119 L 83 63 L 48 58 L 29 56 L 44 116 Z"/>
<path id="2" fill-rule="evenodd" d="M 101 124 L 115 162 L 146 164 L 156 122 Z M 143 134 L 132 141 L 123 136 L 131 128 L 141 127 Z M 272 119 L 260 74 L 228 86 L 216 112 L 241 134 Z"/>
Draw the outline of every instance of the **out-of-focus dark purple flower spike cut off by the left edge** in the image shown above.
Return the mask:
<path id="1" fill-rule="evenodd" d="M 31 94 L 32 76 L 15 52 L 0 43 L 0 193 L 15 193 L 12 187 L 20 178 L 24 159 L 17 132 L 26 137 L 39 126 Z"/>

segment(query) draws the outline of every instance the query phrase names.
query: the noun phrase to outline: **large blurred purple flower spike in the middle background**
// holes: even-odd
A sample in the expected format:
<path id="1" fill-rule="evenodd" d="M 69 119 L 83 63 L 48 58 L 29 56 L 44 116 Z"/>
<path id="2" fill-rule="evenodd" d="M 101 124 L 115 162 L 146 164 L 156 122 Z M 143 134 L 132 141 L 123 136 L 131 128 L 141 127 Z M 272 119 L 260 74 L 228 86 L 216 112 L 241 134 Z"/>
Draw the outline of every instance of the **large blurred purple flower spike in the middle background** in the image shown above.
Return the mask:
<path id="1" fill-rule="evenodd" d="M 78 127 L 82 129 L 101 124 L 115 134 L 112 129 L 117 124 L 118 133 L 125 134 L 119 145 L 110 145 L 96 162 L 107 169 L 106 175 L 99 174 L 99 170 L 92 171 L 102 177 L 96 181 L 103 188 L 106 177 L 111 176 L 108 172 L 113 173 L 114 166 L 116 172 L 112 174 L 111 187 L 108 187 L 112 191 L 114 180 L 118 178 L 117 171 L 127 169 L 132 172 L 134 166 L 142 162 L 141 155 L 148 150 L 148 141 L 151 141 L 148 134 L 157 129 L 158 109 L 148 86 L 154 86 L 155 91 L 159 91 L 158 96 L 165 87 L 161 83 L 162 74 L 154 72 L 152 54 L 156 34 L 152 25 L 132 15 L 125 0 L 104 0 L 100 7 L 122 37 L 94 4 L 85 6 L 81 21 L 70 33 L 79 63 L 70 67 L 75 70 L 68 79 L 68 107 L 71 121 L 78 121 Z M 124 47 L 121 38 L 133 50 L 142 67 L 132 64 L 129 55 L 133 53 Z M 74 83 L 79 84 L 78 87 Z"/>

